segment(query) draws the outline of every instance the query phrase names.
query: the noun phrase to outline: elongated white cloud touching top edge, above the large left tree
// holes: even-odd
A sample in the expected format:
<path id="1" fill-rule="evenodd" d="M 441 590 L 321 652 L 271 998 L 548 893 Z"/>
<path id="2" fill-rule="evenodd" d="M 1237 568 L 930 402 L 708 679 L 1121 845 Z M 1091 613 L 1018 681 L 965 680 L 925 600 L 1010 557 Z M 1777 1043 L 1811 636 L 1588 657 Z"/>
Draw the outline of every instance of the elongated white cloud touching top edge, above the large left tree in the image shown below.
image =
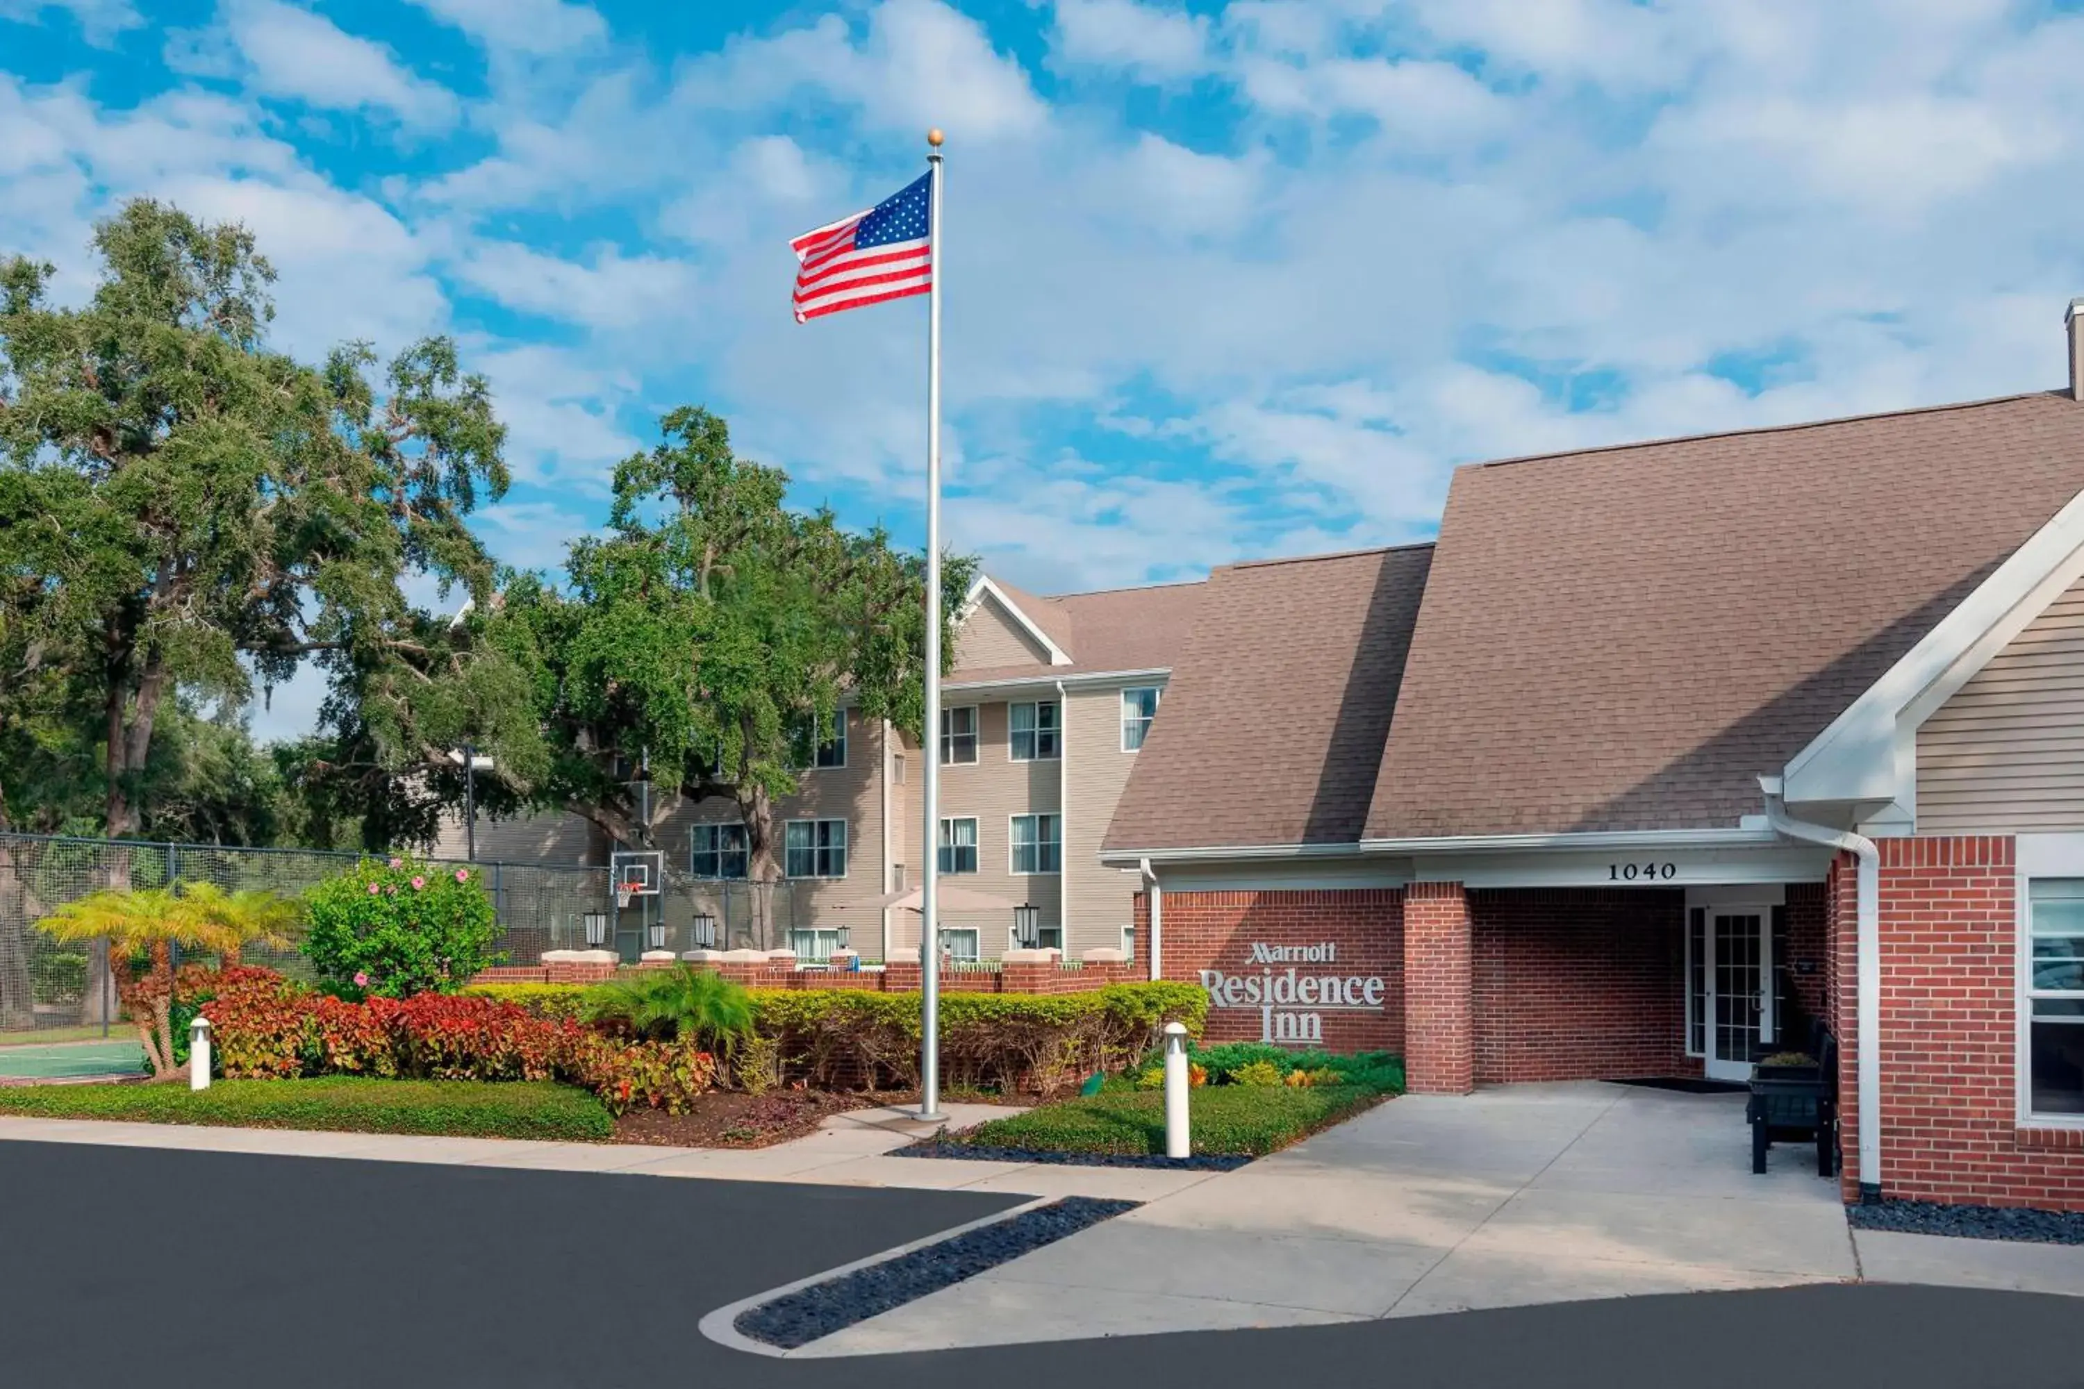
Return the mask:
<path id="1" fill-rule="evenodd" d="M 321 110 L 386 110 L 406 125 L 456 115 L 446 87 L 404 69 L 396 54 L 329 19 L 281 0 L 227 0 L 223 23 L 250 90 Z"/>

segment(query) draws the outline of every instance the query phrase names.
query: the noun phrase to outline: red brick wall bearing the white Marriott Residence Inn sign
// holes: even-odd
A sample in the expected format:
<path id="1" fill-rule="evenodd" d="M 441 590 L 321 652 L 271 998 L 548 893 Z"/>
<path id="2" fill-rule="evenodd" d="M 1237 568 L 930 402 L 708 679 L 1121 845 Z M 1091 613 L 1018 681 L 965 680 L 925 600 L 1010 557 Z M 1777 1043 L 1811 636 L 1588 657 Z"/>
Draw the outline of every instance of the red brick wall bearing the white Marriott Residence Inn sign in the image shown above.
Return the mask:
<path id="1" fill-rule="evenodd" d="M 1328 1052 L 1405 1050 L 1403 893 L 1394 887 L 1323 891 L 1167 891 L 1159 962 L 1167 979 L 1200 981 L 1202 970 L 1259 975 L 1338 975 L 1382 979 L 1380 1012 L 1317 1012 Z M 1148 970 L 1150 912 L 1136 898 L 1138 975 Z M 1252 964 L 1255 941 L 1317 945 L 1332 941 L 1336 956 L 1323 964 Z M 1259 1008 L 1211 1008 L 1209 1041 L 1257 1041 Z"/>

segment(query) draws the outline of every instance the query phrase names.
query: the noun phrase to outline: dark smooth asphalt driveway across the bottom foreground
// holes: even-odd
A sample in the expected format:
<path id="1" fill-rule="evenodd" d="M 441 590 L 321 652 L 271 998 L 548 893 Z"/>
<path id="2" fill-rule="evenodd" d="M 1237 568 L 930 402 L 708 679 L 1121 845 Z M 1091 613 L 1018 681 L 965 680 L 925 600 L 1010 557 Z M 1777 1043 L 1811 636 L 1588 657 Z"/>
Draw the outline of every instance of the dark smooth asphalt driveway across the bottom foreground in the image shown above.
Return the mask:
<path id="1" fill-rule="evenodd" d="M 1807 1287 L 769 1360 L 709 1308 L 1004 1208 L 940 1191 L 0 1143 L 0 1383 L 975 1389 L 2078 1385 L 2078 1304 Z M 1761 1381 L 1757 1347 L 1776 1368 Z"/>

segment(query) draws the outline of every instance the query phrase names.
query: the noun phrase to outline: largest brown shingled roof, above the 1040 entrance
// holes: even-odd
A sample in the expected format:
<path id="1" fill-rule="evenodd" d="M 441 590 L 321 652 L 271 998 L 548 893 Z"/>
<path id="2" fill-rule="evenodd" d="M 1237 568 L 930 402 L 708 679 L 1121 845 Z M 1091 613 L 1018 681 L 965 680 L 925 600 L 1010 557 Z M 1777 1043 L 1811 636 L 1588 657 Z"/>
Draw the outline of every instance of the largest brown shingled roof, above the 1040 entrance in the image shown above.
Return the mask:
<path id="1" fill-rule="evenodd" d="M 1734 825 L 2080 489 L 2055 394 L 1461 469 L 1367 837 Z"/>

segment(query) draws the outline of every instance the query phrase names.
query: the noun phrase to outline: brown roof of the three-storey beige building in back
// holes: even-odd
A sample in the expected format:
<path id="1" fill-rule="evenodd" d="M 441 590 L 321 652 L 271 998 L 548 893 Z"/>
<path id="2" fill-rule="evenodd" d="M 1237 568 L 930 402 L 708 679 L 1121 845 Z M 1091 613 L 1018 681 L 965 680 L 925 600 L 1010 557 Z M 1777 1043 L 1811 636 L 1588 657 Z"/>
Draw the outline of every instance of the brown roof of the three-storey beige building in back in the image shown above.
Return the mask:
<path id="1" fill-rule="evenodd" d="M 1205 587 L 1205 581 L 1157 583 L 1038 598 L 1000 579 L 979 579 L 977 591 L 971 596 L 969 616 L 975 616 L 977 602 L 996 596 L 1004 610 L 1023 616 L 1027 629 L 1065 658 L 957 666 L 948 675 L 948 683 L 1055 679 L 1102 671 L 1169 671 Z"/>

